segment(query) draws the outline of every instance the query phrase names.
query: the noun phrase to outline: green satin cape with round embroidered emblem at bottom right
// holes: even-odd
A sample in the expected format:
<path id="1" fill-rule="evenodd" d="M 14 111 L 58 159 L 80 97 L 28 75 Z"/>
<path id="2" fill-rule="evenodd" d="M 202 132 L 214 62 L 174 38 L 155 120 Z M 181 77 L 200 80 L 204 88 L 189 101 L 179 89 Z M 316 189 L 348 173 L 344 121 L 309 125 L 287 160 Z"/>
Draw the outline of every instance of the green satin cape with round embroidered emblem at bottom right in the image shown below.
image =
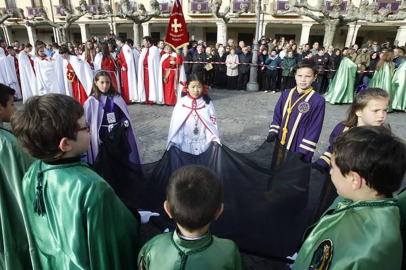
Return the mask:
<path id="1" fill-rule="evenodd" d="M 402 238 L 396 198 L 337 198 L 308 228 L 292 269 L 400 269 Z"/>

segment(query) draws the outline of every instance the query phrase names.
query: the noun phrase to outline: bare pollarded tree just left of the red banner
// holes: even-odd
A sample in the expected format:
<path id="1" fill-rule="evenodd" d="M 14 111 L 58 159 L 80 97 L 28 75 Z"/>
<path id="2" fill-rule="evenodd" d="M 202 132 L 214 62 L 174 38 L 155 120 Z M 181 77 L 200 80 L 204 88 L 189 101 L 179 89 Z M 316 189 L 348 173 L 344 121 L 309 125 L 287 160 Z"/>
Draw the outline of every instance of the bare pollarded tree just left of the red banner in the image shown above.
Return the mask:
<path id="1" fill-rule="evenodd" d="M 138 11 L 128 10 L 129 0 L 120 0 L 121 9 L 114 13 L 110 5 L 105 6 L 106 14 L 103 15 L 93 15 L 90 14 L 92 19 L 106 19 L 108 17 L 117 17 L 122 19 L 127 19 L 133 21 L 134 27 L 134 46 L 140 45 L 141 36 L 140 36 L 140 26 L 144 22 L 150 21 L 152 18 L 159 17 L 170 17 L 171 14 L 161 14 L 159 10 L 159 3 L 157 0 L 151 1 L 151 11 L 146 11 L 143 4 L 138 4 Z"/>

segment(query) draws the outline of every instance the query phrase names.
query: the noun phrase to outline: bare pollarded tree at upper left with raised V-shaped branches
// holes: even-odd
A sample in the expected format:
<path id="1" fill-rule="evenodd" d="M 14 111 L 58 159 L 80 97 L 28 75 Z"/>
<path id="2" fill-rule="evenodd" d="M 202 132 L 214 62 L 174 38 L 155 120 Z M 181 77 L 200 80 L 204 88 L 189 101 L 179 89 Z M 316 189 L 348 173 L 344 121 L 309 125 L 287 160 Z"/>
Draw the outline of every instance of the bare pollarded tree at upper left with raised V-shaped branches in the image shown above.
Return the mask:
<path id="1" fill-rule="evenodd" d="M 26 20 L 25 24 L 27 26 L 36 27 L 36 26 L 41 26 L 41 25 L 49 25 L 58 31 L 58 34 L 62 37 L 62 41 L 67 41 L 67 40 L 69 40 L 69 38 L 67 38 L 68 33 L 69 33 L 69 27 L 75 21 L 77 21 L 78 19 L 80 19 L 82 16 L 84 16 L 87 13 L 87 3 L 85 0 L 79 1 L 79 7 L 75 8 L 78 11 L 77 14 L 71 13 L 69 8 L 67 8 L 65 5 L 61 5 L 60 7 L 61 7 L 61 12 L 64 12 L 64 14 L 66 15 L 64 24 L 55 23 L 52 20 L 50 20 L 48 18 L 46 11 L 42 8 L 39 9 L 39 13 L 42 18 L 41 21 L 35 21 L 36 18 L 33 18 L 33 17 L 25 17 L 24 11 L 22 9 L 18 9 L 18 11 L 21 14 L 21 18 Z M 35 22 L 30 22 L 30 21 L 35 21 Z"/>

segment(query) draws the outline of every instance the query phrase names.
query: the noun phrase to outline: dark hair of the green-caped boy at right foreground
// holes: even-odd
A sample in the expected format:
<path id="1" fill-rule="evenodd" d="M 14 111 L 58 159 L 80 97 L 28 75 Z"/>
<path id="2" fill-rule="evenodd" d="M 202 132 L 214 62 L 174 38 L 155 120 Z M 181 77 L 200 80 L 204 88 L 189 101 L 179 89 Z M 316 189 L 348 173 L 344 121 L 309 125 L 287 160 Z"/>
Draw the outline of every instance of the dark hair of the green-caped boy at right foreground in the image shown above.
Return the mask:
<path id="1" fill-rule="evenodd" d="M 406 146 L 385 127 L 350 129 L 333 142 L 335 164 L 343 175 L 358 173 L 379 195 L 392 197 L 406 171 Z"/>

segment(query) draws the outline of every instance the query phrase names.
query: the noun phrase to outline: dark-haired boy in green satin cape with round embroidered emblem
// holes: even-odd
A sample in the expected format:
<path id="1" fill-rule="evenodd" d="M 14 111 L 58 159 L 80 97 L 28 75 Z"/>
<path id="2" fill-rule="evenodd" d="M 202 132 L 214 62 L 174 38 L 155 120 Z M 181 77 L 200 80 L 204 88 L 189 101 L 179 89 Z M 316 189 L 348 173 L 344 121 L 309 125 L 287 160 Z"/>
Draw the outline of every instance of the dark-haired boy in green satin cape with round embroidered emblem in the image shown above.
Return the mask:
<path id="1" fill-rule="evenodd" d="M 308 228 L 293 269 L 400 269 L 400 210 L 393 192 L 406 171 L 406 146 L 384 127 L 350 129 L 333 142 L 338 197 Z"/>

